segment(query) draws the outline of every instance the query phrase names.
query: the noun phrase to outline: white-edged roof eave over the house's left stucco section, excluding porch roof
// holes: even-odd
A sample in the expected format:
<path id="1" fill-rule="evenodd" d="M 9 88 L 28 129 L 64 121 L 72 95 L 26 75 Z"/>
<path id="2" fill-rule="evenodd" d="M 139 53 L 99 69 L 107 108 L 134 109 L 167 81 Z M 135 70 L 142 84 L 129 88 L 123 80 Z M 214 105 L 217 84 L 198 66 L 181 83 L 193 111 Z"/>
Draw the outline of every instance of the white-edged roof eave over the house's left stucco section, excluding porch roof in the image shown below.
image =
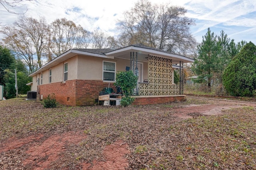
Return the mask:
<path id="1" fill-rule="evenodd" d="M 83 50 L 80 50 L 80 49 L 70 49 L 70 50 L 66 51 L 65 53 L 63 53 L 62 55 L 56 57 L 55 59 L 53 59 L 49 63 L 46 63 L 45 65 L 43 65 L 41 68 L 39 68 L 38 70 L 36 70 L 32 74 L 30 74 L 29 76 L 30 77 L 35 76 L 36 74 L 38 74 L 40 72 L 43 72 L 44 70 L 50 69 L 50 68 L 52 68 L 52 66 L 55 66 L 56 64 L 62 63 L 64 61 L 66 61 L 67 59 L 70 59 L 70 58 L 72 58 L 76 55 L 101 57 L 101 58 L 105 58 L 105 59 L 114 59 L 113 56 L 107 56 L 107 55 L 104 55 L 104 53 L 92 53 L 92 52 L 83 51 Z"/>

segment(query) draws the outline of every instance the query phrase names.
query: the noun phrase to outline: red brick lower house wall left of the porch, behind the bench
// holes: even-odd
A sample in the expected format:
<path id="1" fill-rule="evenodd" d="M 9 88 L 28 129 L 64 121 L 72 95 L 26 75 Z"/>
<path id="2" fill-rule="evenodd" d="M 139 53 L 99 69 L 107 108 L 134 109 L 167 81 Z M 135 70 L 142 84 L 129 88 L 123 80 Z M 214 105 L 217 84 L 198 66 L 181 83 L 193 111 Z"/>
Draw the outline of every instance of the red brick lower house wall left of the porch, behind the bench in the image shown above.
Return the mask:
<path id="1" fill-rule="evenodd" d="M 65 83 L 42 84 L 38 86 L 39 98 L 43 95 L 46 98 L 48 94 L 53 94 L 56 101 L 60 104 L 69 106 L 90 106 L 95 104 L 100 91 L 108 87 L 107 82 L 102 80 L 67 80 Z M 110 88 L 116 91 L 113 83 Z"/>

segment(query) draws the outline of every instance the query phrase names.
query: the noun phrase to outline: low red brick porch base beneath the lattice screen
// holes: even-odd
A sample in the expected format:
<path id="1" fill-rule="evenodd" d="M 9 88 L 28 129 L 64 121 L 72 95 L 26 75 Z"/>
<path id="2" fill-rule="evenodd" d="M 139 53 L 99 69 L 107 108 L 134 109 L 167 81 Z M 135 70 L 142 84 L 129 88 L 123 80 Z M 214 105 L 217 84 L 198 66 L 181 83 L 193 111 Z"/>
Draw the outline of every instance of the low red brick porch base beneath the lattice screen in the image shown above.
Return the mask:
<path id="1" fill-rule="evenodd" d="M 171 97 L 149 97 L 149 98 L 135 98 L 133 105 L 147 105 L 147 104 L 161 104 L 174 101 L 184 101 L 184 96 L 171 96 Z"/>

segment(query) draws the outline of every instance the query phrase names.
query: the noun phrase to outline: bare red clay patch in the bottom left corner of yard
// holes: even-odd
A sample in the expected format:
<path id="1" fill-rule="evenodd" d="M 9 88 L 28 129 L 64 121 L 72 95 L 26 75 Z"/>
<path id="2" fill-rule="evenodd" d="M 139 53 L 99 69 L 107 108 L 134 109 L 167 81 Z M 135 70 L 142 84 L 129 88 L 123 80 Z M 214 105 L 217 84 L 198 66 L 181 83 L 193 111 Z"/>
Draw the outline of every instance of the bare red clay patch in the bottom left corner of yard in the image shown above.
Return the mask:
<path id="1" fill-rule="evenodd" d="M 6 152 L 24 145 L 29 145 L 26 151 L 30 156 L 23 161 L 23 166 L 33 167 L 33 170 L 50 169 L 51 163 L 58 160 L 64 152 L 66 144 L 78 145 L 86 135 L 81 132 L 68 132 L 62 135 L 52 135 L 46 140 L 44 135 L 32 135 L 23 139 L 12 137 L 0 145 L 0 152 Z"/>

